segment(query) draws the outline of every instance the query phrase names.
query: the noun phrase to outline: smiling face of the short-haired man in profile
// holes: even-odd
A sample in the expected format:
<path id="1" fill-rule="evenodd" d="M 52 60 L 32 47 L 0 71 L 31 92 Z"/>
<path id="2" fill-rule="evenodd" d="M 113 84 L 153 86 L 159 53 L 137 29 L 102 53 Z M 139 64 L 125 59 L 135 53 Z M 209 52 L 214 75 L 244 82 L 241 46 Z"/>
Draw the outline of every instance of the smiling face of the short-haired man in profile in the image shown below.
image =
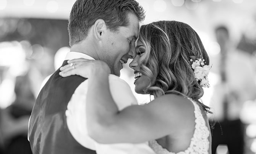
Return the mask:
<path id="1" fill-rule="evenodd" d="M 139 20 L 136 15 L 128 14 L 129 25 L 119 27 L 117 32 L 107 30 L 107 35 L 102 44 L 100 60 L 106 62 L 111 73 L 120 76 L 120 70 L 127 60 L 136 56 L 135 41 L 139 33 Z"/>

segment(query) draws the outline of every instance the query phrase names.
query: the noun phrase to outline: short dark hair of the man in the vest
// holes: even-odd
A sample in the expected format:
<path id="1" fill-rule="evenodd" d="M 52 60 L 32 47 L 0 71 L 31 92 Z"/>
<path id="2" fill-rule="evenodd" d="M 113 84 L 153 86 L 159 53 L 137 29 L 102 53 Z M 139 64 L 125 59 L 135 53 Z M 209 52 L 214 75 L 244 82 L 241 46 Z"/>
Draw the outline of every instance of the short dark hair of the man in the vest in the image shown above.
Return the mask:
<path id="1" fill-rule="evenodd" d="M 135 14 L 140 22 L 145 18 L 143 8 L 135 0 L 76 0 L 68 23 L 70 46 L 86 38 L 97 19 L 103 19 L 113 31 L 128 26 L 128 13 Z"/>

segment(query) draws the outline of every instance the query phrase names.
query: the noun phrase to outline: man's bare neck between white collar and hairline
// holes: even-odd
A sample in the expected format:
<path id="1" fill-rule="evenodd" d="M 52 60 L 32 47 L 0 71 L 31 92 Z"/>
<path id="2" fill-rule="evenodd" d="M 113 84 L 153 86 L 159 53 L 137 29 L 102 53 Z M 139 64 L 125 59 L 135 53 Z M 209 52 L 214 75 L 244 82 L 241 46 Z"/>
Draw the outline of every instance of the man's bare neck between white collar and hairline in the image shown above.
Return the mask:
<path id="1" fill-rule="evenodd" d="M 95 43 L 87 39 L 79 43 L 73 44 L 70 48 L 70 52 L 81 52 L 83 54 L 91 56 L 95 60 L 98 60 L 99 56 L 96 51 L 97 46 L 95 45 Z"/>

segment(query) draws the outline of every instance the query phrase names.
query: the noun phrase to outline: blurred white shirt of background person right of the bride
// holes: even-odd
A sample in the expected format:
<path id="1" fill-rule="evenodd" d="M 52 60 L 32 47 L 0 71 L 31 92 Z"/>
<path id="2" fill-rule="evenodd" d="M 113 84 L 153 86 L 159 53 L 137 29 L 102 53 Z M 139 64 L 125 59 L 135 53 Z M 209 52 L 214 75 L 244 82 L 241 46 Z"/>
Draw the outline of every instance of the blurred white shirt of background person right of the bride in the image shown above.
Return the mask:
<path id="1" fill-rule="evenodd" d="M 219 68 L 224 67 L 220 60 L 220 55 L 211 60 L 215 65 L 215 68 L 214 65 L 212 67 L 217 73 Z M 226 83 L 219 81 L 215 86 L 210 87 L 213 89 L 210 107 L 214 114 L 209 114 L 209 117 L 217 121 L 224 120 L 224 112 L 227 113 L 228 120 L 239 119 L 243 104 L 256 98 L 255 57 L 231 48 L 225 60 Z M 225 97 L 229 102 L 226 111 L 223 106 Z"/>

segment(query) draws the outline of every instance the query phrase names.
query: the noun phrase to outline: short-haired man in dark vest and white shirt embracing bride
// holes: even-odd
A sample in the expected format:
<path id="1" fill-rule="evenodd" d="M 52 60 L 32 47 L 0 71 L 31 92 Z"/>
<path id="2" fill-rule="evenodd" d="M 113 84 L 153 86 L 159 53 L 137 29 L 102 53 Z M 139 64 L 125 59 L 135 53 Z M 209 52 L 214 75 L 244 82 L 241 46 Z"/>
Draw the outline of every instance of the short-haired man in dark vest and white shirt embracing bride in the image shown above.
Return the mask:
<path id="1" fill-rule="evenodd" d="M 120 109 L 136 102 L 128 84 L 118 76 L 123 64 L 136 56 L 134 42 L 143 19 L 143 9 L 134 0 L 77 0 L 70 13 L 71 49 L 63 66 L 76 58 L 106 62 L 116 75 L 110 76 L 110 90 Z M 86 127 L 86 79 L 62 78 L 59 72 L 42 88 L 31 113 L 28 135 L 34 154 L 154 153 L 146 143 L 107 145 L 93 141 Z"/>

